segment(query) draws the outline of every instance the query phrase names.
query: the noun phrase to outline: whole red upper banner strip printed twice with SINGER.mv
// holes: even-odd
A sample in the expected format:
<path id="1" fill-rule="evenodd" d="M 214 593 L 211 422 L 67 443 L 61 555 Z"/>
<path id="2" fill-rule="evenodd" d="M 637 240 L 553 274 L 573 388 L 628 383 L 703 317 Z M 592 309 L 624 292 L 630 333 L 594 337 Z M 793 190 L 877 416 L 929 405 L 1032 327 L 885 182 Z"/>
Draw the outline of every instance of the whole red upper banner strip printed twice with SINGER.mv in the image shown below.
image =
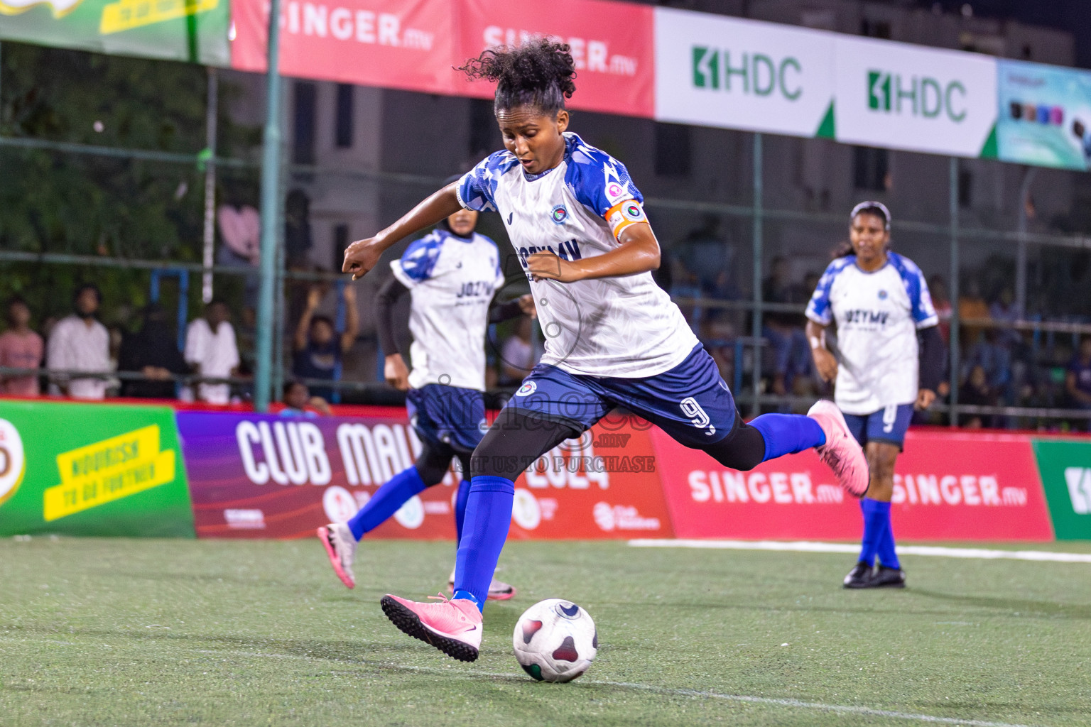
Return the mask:
<path id="1" fill-rule="evenodd" d="M 489 98 L 454 71 L 490 46 L 547 35 L 572 46 L 572 108 L 650 118 L 654 11 L 606 0 L 286 0 L 284 75 Z M 264 71 L 267 0 L 232 0 L 231 68 Z"/>

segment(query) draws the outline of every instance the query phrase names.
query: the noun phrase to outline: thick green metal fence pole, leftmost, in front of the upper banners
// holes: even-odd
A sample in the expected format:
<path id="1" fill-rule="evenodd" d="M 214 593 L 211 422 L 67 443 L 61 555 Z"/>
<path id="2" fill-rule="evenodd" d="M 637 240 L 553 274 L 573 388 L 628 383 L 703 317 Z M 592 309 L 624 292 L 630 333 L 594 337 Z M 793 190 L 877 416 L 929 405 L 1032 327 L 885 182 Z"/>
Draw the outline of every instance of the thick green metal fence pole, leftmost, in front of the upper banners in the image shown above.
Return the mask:
<path id="1" fill-rule="evenodd" d="M 268 411 L 273 364 L 273 288 L 277 239 L 280 233 L 280 0 L 271 0 L 268 66 L 265 99 L 265 136 L 262 145 L 261 287 L 257 294 L 257 341 L 254 366 L 254 410 Z"/>

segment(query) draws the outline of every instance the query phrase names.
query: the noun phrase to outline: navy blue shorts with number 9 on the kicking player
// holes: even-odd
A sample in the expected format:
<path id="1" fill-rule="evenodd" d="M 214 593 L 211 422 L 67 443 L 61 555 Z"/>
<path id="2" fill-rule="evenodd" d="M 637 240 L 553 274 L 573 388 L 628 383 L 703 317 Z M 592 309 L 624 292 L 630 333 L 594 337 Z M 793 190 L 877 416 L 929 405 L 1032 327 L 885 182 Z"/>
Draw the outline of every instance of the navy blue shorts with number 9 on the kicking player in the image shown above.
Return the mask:
<path id="1" fill-rule="evenodd" d="M 624 407 L 694 449 L 719 441 L 735 424 L 735 400 L 700 344 L 674 368 L 645 378 L 580 376 L 538 364 L 507 407 L 579 432 Z"/>

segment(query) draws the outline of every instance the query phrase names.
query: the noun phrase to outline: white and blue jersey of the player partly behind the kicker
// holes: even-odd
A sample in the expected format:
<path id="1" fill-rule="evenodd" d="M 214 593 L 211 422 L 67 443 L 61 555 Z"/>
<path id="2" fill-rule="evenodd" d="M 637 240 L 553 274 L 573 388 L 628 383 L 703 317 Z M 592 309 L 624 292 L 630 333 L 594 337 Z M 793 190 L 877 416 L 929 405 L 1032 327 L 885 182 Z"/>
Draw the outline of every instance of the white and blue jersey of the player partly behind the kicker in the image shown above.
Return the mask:
<path id="1" fill-rule="evenodd" d="M 489 303 L 504 284 L 496 243 L 435 230 L 411 242 L 391 269 L 412 295 L 409 386 L 483 391 Z"/>

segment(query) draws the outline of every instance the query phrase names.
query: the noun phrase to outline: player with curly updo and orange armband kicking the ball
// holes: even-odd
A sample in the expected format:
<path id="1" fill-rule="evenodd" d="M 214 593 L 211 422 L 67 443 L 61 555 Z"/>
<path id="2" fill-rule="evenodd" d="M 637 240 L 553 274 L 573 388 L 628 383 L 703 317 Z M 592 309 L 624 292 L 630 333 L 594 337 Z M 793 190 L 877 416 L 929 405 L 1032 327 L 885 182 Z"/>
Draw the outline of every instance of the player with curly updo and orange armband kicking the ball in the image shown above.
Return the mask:
<path id="1" fill-rule="evenodd" d="M 382 599 L 404 632 L 472 662 L 515 478 L 613 408 L 735 470 L 814 447 L 859 496 L 867 462 L 832 402 L 818 402 L 807 416 L 766 414 L 743 424 L 712 358 L 651 279 L 659 243 L 625 166 L 567 132 L 564 99 L 575 90 L 567 46 L 535 39 L 487 50 L 463 70 L 496 83 L 505 150 L 374 238 L 352 243 L 344 270 L 364 275 L 397 240 L 465 207 L 500 213 L 530 279 L 546 353 L 473 451 L 454 597 Z"/>

